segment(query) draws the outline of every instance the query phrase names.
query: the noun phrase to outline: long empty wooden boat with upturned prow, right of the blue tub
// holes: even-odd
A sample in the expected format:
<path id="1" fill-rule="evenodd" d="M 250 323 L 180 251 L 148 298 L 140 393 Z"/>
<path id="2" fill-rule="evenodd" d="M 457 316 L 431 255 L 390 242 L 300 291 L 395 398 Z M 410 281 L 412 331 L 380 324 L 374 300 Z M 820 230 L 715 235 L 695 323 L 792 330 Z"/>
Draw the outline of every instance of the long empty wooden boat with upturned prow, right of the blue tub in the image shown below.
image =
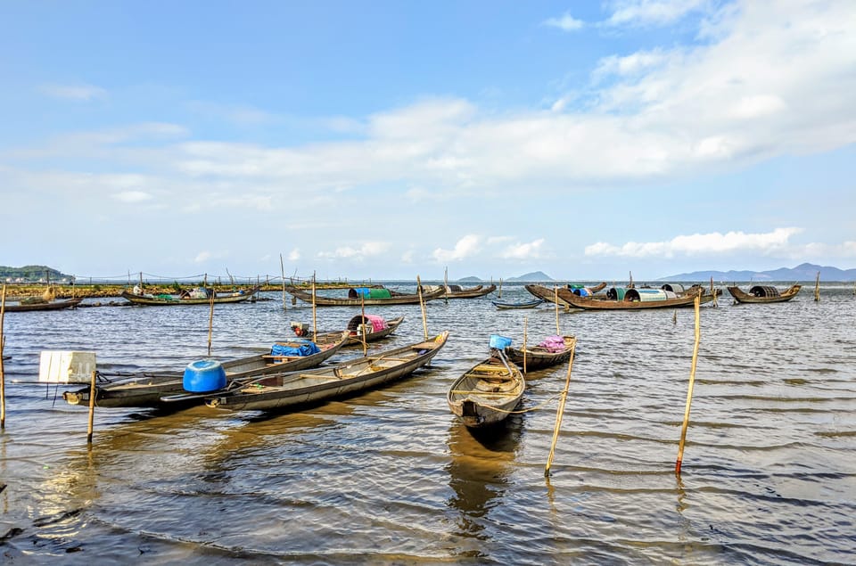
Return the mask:
<path id="1" fill-rule="evenodd" d="M 205 398 L 210 407 L 284 410 L 374 389 L 428 365 L 446 344 L 449 331 L 430 340 L 308 372 L 277 373 L 227 388 Z"/>

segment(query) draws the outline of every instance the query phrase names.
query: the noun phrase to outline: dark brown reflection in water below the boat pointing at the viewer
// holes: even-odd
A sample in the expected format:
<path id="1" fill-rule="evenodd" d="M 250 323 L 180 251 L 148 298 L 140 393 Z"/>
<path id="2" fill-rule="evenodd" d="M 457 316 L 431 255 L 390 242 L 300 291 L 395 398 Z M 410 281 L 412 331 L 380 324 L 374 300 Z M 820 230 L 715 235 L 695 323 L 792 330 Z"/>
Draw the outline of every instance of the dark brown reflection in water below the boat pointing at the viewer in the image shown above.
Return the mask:
<path id="1" fill-rule="evenodd" d="M 457 420 L 449 426 L 449 487 L 447 505 L 459 513 L 457 535 L 487 540 L 490 511 L 508 488 L 514 455 L 523 434 L 523 417 L 509 416 L 490 430 L 470 430 Z"/>

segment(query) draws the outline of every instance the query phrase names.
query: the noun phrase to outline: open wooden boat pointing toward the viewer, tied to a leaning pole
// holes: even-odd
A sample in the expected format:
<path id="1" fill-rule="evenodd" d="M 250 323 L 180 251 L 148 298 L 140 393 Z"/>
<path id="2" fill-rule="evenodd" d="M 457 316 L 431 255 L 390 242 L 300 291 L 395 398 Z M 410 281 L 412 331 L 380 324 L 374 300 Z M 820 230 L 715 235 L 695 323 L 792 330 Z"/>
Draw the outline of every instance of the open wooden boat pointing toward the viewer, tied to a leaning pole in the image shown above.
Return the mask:
<path id="1" fill-rule="evenodd" d="M 523 398 L 526 381 L 502 350 L 474 365 L 452 384 L 447 402 L 452 413 L 469 428 L 503 422 Z"/>

